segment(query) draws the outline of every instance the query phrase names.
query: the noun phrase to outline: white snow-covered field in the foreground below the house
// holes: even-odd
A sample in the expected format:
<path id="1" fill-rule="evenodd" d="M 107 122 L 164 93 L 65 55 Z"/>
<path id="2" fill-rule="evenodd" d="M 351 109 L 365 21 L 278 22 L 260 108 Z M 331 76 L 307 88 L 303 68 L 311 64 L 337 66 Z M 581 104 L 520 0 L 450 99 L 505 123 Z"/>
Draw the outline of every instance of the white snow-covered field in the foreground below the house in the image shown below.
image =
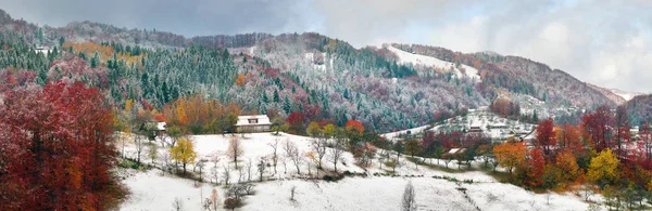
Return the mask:
<path id="1" fill-rule="evenodd" d="M 222 172 L 224 167 L 230 167 L 230 183 L 237 183 L 240 176 L 234 170 L 234 163 L 224 154 L 228 148 L 230 135 L 196 135 L 195 148 L 201 159 L 212 160 L 218 157 L 216 163 L 209 161 L 204 168 L 204 180 L 211 176 L 211 169 Z M 247 134 L 242 140 L 243 156 L 238 166 L 242 174 L 247 174 L 246 162 L 252 159 L 254 164 L 261 157 L 268 157 L 272 147 L 268 144 L 279 140 L 278 154 L 285 157 L 283 147 L 285 141 L 296 143 L 302 153 L 310 151 L 309 137 L 281 134 L 276 136 L 269 133 Z M 164 154 L 166 148 L 159 153 Z M 147 149 L 145 150 L 147 151 Z M 127 155 L 135 156 L 134 146 L 127 147 Z M 142 155 L 147 155 L 143 153 Z M 396 157 L 396 154 L 393 155 Z M 334 170 L 333 163 L 328 161 L 328 155 L 324 160 L 326 170 Z M 141 157 L 142 161 L 149 162 L 148 158 Z M 389 169 L 380 168 L 379 161 L 374 160 L 366 169 L 354 164 L 351 154 L 344 154 L 344 161 L 338 164 L 338 171 L 366 172 L 367 176 L 348 176 L 339 182 L 325 182 L 321 180 L 306 180 L 308 160 L 301 164 L 301 176 L 297 175 L 296 168 L 289 160 L 283 160 L 287 164 L 279 163 L 277 173 L 273 168 L 264 172 L 265 181 L 258 182 L 255 166 L 253 167 L 252 182 L 255 184 L 255 195 L 244 197 L 244 206 L 240 210 L 398 210 L 405 184 L 412 181 L 416 189 L 416 203 L 418 210 L 586 210 L 588 205 L 580 198 L 572 195 L 557 194 L 534 194 L 511 184 L 497 182 L 492 176 L 481 171 L 468 171 L 462 173 L 449 173 L 426 167 L 416 167 L 401 158 L 402 164 L 397 168 L 400 176 L 374 176 L 374 173 L 385 173 Z M 161 163 L 158 160 L 156 163 Z M 437 160 L 427 160 L 437 164 Z M 346 166 L 343 164 L 346 163 Z M 474 162 L 474 166 L 480 164 Z M 443 162 L 439 163 L 444 167 Z M 311 172 L 315 173 L 314 166 Z M 450 163 L 449 168 L 457 168 Z M 463 167 L 464 168 L 464 167 Z M 193 167 L 189 166 L 188 171 Z M 197 171 L 198 172 L 198 171 Z M 184 203 L 184 210 L 202 210 L 201 199 L 209 198 L 212 189 L 220 193 L 224 200 L 225 189 L 208 182 L 198 183 L 189 179 L 180 179 L 166 173 L 162 175 L 161 170 L 147 172 L 124 170 L 124 183 L 130 188 L 129 199 L 122 205 L 121 210 L 172 210 L 172 203 L 178 198 Z M 410 176 L 408 176 L 410 175 Z M 415 177 L 412 177 L 414 175 Z M 432 176 L 437 176 L 435 179 Z M 473 180 L 472 184 L 450 182 L 441 176 L 454 177 L 459 181 Z M 223 177 L 220 177 L 223 181 Z M 246 182 L 247 175 L 242 176 Z M 198 187 L 199 186 L 199 187 Z M 290 188 L 297 187 L 296 200 L 290 200 Z M 550 196 L 550 203 L 548 199 Z"/>

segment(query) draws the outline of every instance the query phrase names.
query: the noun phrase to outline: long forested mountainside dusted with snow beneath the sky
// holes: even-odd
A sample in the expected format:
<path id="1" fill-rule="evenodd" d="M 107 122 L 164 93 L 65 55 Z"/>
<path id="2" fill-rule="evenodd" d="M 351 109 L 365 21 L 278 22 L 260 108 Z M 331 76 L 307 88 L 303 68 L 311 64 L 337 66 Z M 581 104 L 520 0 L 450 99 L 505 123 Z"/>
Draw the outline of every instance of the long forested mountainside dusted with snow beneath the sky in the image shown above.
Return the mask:
<path id="1" fill-rule="evenodd" d="M 252 113 L 298 111 L 306 121 L 338 124 L 356 119 L 385 132 L 488 106 L 498 96 L 540 117 L 616 104 L 566 72 L 490 52 L 396 43 L 355 49 L 314 32 L 185 38 L 91 22 L 38 27 L 0 14 L 1 41 L 8 43 L 0 68 L 33 70 L 41 85 L 84 80 L 105 90 L 115 105 L 137 100 L 161 108 L 202 93 Z M 41 45 L 53 53 L 35 53 Z"/>

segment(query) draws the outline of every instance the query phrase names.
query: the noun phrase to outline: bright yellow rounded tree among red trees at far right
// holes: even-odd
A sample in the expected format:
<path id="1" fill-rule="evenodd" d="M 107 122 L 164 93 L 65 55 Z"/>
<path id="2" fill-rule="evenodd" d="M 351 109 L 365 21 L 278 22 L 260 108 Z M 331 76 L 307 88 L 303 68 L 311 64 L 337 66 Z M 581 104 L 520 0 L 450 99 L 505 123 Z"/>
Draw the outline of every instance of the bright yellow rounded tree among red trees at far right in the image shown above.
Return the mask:
<path id="1" fill-rule="evenodd" d="M 620 161 L 611 150 L 602 150 L 598 156 L 591 159 L 587 177 L 590 182 L 614 182 L 617 176 L 617 169 Z"/>

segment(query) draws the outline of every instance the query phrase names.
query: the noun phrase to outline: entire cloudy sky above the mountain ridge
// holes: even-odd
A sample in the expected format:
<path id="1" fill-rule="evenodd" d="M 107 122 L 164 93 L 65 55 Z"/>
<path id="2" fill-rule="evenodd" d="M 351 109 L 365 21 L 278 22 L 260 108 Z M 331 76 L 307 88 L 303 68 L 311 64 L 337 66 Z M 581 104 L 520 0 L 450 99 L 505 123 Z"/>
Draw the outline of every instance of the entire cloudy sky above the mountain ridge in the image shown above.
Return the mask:
<path id="1" fill-rule="evenodd" d="M 529 57 L 580 80 L 652 92 L 648 0 L 0 0 L 13 17 L 93 21 L 185 36 L 317 31 Z"/>

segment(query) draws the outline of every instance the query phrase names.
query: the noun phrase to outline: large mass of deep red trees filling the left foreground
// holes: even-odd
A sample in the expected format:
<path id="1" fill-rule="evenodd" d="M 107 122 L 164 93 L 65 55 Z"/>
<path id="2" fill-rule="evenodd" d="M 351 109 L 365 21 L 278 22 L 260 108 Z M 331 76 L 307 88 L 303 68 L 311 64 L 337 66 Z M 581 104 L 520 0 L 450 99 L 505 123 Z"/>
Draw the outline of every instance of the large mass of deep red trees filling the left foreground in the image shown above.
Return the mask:
<path id="1" fill-rule="evenodd" d="M 103 209 L 116 154 L 99 90 L 53 82 L 12 89 L 3 101 L 0 210 Z"/>

